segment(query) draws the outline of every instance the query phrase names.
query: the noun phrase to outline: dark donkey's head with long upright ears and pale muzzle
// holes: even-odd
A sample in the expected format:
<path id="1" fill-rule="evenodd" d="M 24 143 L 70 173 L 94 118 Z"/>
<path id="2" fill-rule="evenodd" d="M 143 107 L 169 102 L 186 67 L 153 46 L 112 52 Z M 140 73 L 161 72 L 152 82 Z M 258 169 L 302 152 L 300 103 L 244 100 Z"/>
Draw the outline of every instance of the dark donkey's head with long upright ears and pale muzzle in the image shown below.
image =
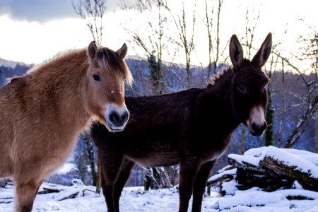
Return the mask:
<path id="1" fill-rule="evenodd" d="M 236 35 L 230 40 L 230 59 L 233 65 L 232 108 L 235 116 L 247 125 L 253 136 L 261 136 L 266 129 L 266 84 L 269 78 L 261 67 L 271 53 L 271 33 L 267 35 L 252 61 L 243 58 L 243 49 Z"/>

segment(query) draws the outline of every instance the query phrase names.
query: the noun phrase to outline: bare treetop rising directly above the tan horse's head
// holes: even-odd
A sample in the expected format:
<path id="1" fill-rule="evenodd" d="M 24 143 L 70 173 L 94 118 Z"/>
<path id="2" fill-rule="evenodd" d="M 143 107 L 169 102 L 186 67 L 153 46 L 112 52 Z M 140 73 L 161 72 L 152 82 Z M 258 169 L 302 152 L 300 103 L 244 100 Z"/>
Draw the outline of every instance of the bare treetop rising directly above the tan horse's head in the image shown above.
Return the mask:
<path id="1" fill-rule="evenodd" d="M 72 1 L 74 11 L 86 20 L 86 25 L 98 45 L 102 44 L 102 16 L 106 11 L 107 0 L 76 0 Z"/>

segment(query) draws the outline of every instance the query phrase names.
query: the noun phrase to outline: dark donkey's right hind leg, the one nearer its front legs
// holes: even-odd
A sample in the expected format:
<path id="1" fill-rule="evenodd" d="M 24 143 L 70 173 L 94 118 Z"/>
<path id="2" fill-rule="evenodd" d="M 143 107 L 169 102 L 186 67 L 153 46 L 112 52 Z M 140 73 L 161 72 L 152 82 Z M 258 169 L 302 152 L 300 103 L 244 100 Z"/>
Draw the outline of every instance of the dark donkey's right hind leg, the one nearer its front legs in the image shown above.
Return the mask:
<path id="1" fill-rule="evenodd" d="M 122 189 L 124 189 L 124 186 L 129 179 L 134 164 L 134 162 L 126 158 L 122 161 L 122 167 L 120 168 L 119 176 L 114 188 L 114 205 L 117 212 L 119 212 L 119 199 L 122 195 Z"/>

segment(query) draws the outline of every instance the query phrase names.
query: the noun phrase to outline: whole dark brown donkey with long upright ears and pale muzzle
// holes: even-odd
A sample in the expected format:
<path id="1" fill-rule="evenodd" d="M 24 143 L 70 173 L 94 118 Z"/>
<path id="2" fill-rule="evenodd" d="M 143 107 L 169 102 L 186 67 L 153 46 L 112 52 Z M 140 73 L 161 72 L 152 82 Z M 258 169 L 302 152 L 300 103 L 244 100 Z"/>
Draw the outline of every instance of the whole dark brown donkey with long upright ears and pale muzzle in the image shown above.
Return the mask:
<path id="1" fill-rule="evenodd" d="M 179 211 L 187 211 L 192 194 L 192 211 L 201 211 L 208 175 L 228 148 L 233 131 L 241 123 L 253 136 L 261 136 L 266 129 L 269 77 L 261 67 L 269 58 L 271 43 L 269 33 L 249 61 L 232 35 L 232 67 L 206 88 L 125 97 L 131 117 L 117 134 L 93 124 L 90 134 L 98 147 L 109 212 L 119 212 L 119 198 L 135 163 L 145 167 L 179 164 Z"/>

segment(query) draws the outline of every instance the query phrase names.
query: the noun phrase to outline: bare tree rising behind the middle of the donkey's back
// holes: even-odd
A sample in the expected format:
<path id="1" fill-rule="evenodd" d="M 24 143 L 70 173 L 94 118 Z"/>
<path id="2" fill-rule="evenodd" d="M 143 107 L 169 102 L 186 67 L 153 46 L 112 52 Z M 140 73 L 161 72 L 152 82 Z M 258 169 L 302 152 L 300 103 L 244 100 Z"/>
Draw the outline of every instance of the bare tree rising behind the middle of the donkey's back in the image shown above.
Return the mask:
<path id="1" fill-rule="evenodd" d="M 143 49 L 148 61 L 148 66 L 151 69 L 151 79 L 153 81 L 153 94 L 165 93 L 166 83 L 163 78 L 163 54 L 167 49 L 169 40 L 167 36 L 167 2 L 165 0 L 122 0 L 119 4 L 124 10 L 135 10 L 143 13 L 146 19 L 142 23 L 142 30 L 147 33 L 141 33 L 139 29 L 131 29 L 124 26 L 129 35 L 132 37 L 132 42 Z M 150 16 L 148 16 L 150 14 Z M 155 16 L 153 16 L 155 14 Z M 134 20 L 132 20 L 134 21 Z"/>

